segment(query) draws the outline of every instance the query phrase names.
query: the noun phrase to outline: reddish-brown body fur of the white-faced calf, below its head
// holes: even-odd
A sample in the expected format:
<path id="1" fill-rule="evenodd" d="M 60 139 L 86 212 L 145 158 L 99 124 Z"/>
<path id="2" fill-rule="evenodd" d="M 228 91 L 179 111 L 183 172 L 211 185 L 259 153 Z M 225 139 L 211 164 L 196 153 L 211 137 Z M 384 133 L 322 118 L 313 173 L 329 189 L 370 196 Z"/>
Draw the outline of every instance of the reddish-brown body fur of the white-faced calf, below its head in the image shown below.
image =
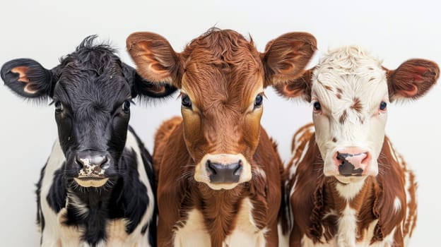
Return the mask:
<path id="1" fill-rule="evenodd" d="M 291 167 L 297 167 L 295 175 L 288 180 L 287 189 L 290 191 L 291 187 L 296 184 L 295 192 L 290 197 L 290 207 L 293 214 L 290 246 L 300 246 L 304 235 L 316 243 L 320 242 L 322 237 L 326 241 L 333 239 L 337 232 L 338 215 L 341 215 L 346 205 L 346 200 L 341 198 L 336 191 L 335 186 L 339 181 L 334 177 L 323 176 L 323 161 L 315 143 L 314 133 L 305 131 L 311 127 L 310 125 L 305 127 L 298 131 L 298 133 L 305 135 L 305 138 L 295 136 L 300 141 L 298 146 L 294 148 L 293 159 L 286 169 L 286 173 L 288 173 Z M 305 157 L 298 160 L 307 143 L 309 145 Z M 376 177 L 367 177 L 361 191 L 349 203 L 351 208 L 358 212 L 357 236 L 359 240 L 363 239 L 364 230 L 369 224 L 378 219 L 372 243 L 382 241 L 392 232 L 394 227 L 397 227 L 394 246 L 403 246 L 403 237 L 411 233 L 415 227 L 416 183 L 413 181 L 412 171 L 406 170 L 406 163 L 400 163 L 401 156 L 394 153 L 394 156 L 400 157 L 400 159 L 393 158 L 390 146 L 389 139 L 385 137 L 378 159 L 379 174 Z M 406 204 L 406 188 L 404 188 L 405 172 L 411 176 L 409 190 L 411 200 L 408 204 Z M 396 213 L 394 213 L 395 197 L 401 201 L 401 209 Z M 411 209 L 409 215 L 406 215 L 407 207 Z M 324 218 L 324 215 L 330 210 L 336 210 L 338 215 Z M 413 224 L 409 225 L 411 219 Z M 401 229 L 403 236 L 401 236 Z"/>

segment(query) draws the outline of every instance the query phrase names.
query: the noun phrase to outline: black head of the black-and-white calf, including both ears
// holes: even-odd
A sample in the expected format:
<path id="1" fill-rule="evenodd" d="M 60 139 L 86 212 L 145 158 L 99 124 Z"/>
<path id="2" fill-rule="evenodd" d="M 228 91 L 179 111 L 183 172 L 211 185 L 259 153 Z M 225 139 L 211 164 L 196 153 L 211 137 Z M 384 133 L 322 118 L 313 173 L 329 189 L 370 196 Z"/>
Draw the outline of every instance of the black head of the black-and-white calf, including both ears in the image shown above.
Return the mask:
<path id="1" fill-rule="evenodd" d="M 104 186 L 117 178 L 131 99 L 175 91 L 143 80 L 108 45 L 93 45 L 94 38 L 87 37 L 51 70 L 31 59 L 8 61 L 1 68 L 1 78 L 19 96 L 53 100 L 66 177 L 82 187 Z"/>

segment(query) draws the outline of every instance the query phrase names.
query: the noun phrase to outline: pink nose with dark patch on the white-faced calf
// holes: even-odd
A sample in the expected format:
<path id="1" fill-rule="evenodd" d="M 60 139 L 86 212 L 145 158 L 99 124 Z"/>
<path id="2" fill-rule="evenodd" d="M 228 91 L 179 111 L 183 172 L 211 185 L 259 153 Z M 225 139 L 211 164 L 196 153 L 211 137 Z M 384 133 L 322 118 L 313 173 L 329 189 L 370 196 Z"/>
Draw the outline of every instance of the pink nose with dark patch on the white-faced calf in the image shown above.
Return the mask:
<path id="1" fill-rule="evenodd" d="M 347 147 L 334 155 L 334 164 L 343 176 L 360 176 L 370 164 L 372 155 L 359 147 Z"/>

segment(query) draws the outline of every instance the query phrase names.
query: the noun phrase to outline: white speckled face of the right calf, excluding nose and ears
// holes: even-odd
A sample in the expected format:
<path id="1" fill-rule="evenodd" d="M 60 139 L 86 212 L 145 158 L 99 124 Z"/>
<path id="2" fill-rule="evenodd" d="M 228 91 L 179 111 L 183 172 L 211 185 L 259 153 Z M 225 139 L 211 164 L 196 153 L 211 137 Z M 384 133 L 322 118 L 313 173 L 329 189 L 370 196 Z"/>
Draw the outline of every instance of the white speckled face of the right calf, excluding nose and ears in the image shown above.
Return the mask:
<path id="1" fill-rule="evenodd" d="M 389 103 L 381 62 L 358 47 L 329 52 L 312 76 L 314 102 L 321 105 L 313 119 L 324 174 L 339 174 L 333 159 L 337 151 L 358 147 L 372 155 L 363 174 L 376 176 L 387 121 L 387 110 L 380 111 L 380 103 Z"/>

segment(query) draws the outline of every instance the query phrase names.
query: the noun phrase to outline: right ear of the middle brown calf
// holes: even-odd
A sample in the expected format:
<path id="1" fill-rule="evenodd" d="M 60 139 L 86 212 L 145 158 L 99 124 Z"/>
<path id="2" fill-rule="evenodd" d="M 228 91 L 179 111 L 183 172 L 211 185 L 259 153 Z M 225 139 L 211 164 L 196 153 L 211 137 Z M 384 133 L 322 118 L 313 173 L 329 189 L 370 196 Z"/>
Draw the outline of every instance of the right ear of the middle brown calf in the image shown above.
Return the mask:
<path id="1" fill-rule="evenodd" d="M 302 75 L 317 50 L 317 41 L 307 32 L 288 32 L 266 44 L 261 54 L 265 86 L 288 83 Z"/>

